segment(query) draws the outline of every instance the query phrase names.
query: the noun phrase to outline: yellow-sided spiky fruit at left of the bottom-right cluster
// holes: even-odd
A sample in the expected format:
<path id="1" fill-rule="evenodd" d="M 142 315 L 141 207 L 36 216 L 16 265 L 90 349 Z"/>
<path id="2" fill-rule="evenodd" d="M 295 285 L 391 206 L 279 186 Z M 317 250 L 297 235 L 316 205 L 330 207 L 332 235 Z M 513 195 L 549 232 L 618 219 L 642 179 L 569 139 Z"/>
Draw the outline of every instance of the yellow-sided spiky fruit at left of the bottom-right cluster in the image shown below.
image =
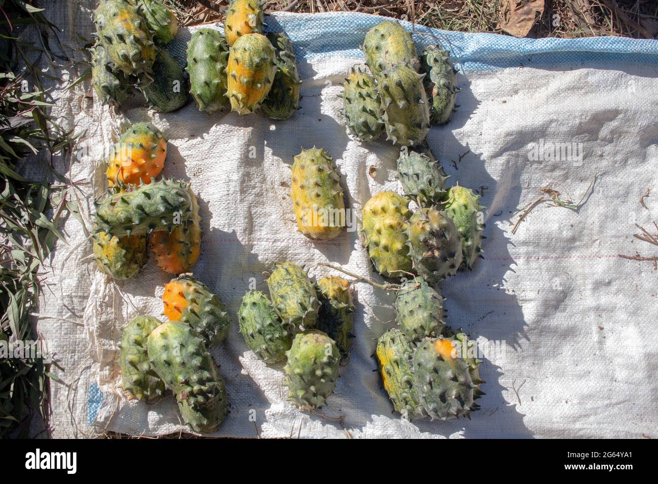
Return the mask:
<path id="1" fill-rule="evenodd" d="M 420 398 L 414 386 L 413 352 L 411 342 L 395 328 L 379 337 L 375 351 L 384 390 L 395 412 L 409 420 L 423 416 Z"/>

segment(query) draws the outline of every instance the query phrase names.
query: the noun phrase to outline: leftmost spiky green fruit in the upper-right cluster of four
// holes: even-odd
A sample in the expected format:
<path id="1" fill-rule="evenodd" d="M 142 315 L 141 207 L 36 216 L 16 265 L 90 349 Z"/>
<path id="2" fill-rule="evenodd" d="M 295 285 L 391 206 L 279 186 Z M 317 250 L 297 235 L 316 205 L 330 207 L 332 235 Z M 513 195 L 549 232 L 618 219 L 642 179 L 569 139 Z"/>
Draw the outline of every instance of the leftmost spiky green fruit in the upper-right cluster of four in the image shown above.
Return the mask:
<path id="1" fill-rule="evenodd" d="M 382 136 L 384 110 L 374 78 L 361 69 L 352 68 L 343 88 L 343 106 L 349 132 L 361 141 L 372 141 Z"/>

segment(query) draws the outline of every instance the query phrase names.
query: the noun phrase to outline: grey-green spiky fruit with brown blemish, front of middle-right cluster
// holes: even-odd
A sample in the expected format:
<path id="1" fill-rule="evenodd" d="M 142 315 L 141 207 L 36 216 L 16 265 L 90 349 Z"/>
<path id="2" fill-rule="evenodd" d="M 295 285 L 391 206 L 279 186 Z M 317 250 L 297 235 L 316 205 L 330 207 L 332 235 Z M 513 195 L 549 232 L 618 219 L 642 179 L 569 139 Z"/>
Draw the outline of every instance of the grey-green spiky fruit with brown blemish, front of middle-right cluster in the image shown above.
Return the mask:
<path id="1" fill-rule="evenodd" d="M 418 209 L 409 218 L 407 236 L 414 268 L 430 285 L 455 275 L 463 257 L 461 240 L 445 212 L 432 207 Z"/>

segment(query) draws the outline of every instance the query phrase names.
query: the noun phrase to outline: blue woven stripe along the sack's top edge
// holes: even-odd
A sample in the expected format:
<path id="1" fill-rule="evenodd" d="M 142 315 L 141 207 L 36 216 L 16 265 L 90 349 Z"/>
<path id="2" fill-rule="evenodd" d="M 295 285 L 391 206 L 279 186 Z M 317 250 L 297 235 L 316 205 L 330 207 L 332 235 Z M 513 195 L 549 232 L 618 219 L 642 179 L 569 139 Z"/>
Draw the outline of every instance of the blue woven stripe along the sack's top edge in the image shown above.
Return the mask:
<path id="1" fill-rule="evenodd" d="M 295 54 L 307 59 L 361 57 L 361 43 L 369 28 L 390 20 L 363 13 L 291 14 L 274 13 L 267 17 L 266 30 L 284 30 L 295 45 Z M 400 22 L 412 31 L 411 22 Z M 584 39 L 517 39 L 498 34 L 451 32 L 416 25 L 413 40 L 419 51 L 432 43 L 441 43 L 455 61 L 467 70 L 501 67 L 644 63 L 658 65 L 658 41 L 622 37 Z"/>

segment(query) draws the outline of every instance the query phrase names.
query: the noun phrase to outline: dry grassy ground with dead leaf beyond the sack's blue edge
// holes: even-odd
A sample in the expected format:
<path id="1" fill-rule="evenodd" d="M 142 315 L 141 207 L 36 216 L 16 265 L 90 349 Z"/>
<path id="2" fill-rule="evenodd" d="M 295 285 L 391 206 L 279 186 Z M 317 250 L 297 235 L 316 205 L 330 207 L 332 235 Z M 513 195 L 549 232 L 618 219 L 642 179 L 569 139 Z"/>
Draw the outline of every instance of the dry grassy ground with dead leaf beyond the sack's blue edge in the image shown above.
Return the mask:
<path id="1" fill-rule="evenodd" d="M 228 0 L 165 0 L 183 25 L 223 20 Z M 266 11 L 365 12 L 517 37 L 658 38 L 656 0 L 266 0 Z"/>

